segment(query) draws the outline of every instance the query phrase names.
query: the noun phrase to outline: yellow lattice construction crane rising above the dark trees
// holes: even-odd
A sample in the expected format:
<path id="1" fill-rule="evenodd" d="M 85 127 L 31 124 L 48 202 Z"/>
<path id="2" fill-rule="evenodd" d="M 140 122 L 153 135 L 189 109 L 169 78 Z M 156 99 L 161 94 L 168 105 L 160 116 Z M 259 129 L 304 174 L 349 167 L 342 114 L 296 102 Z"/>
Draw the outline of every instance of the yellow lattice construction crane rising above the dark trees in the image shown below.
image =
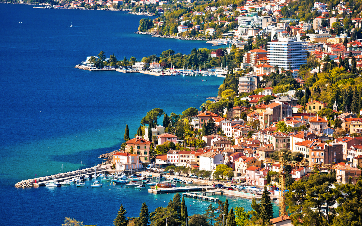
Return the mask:
<path id="1" fill-rule="evenodd" d="M 308 158 L 303 158 L 302 162 L 297 161 L 286 161 L 284 160 L 283 154 L 288 154 L 281 152 L 278 154 L 279 161 L 264 161 L 264 163 L 277 163 L 279 164 L 279 217 L 286 215 L 285 209 L 285 165 L 291 166 L 305 166 L 305 167 L 316 167 L 316 168 L 325 168 L 325 169 L 336 169 L 337 165 L 324 164 L 317 162 L 304 162 L 304 160 L 309 160 Z M 288 154 L 292 155 L 292 154 Z M 302 158 L 296 155 L 292 155 L 298 158 Z"/>

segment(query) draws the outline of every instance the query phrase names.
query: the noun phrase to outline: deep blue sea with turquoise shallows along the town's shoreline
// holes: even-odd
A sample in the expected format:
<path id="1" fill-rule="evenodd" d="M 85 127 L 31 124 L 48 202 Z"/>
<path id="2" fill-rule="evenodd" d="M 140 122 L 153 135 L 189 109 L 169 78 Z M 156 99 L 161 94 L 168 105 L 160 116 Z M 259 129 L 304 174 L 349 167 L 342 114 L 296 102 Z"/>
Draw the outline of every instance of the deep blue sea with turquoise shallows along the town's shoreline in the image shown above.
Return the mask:
<path id="1" fill-rule="evenodd" d="M 100 51 L 119 60 L 172 49 L 189 54 L 213 48 L 202 41 L 134 34 L 147 18 L 121 11 L 37 9 L 0 4 L 0 216 L 4 225 L 62 225 L 65 217 L 85 225 L 113 225 L 120 205 L 137 217 L 166 206 L 173 193 L 153 195 L 114 184 L 102 188 L 15 188 L 17 182 L 63 170 L 92 167 L 100 154 L 118 150 L 126 124 L 131 137 L 153 108 L 181 114 L 217 95 L 223 78 L 156 77 L 89 72 L 73 68 Z M 72 24 L 73 27 L 70 27 Z M 63 169 L 62 169 L 63 167 Z M 250 199 L 219 196 L 250 210 Z M 186 199 L 189 215 L 209 202 Z M 274 205 L 275 206 L 275 205 Z M 274 215 L 277 215 L 275 207 Z"/>

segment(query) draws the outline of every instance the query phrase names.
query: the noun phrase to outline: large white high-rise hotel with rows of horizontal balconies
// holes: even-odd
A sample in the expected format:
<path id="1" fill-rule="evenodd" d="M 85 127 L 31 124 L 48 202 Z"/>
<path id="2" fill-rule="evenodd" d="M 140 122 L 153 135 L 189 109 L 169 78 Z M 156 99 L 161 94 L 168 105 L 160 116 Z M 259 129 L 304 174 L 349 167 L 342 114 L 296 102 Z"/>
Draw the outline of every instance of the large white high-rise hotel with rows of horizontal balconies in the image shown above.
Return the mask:
<path id="1" fill-rule="evenodd" d="M 268 42 L 268 64 L 284 69 L 299 69 L 307 63 L 307 42 L 296 42 L 287 31 L 278 33 L 278 42 Z"/>

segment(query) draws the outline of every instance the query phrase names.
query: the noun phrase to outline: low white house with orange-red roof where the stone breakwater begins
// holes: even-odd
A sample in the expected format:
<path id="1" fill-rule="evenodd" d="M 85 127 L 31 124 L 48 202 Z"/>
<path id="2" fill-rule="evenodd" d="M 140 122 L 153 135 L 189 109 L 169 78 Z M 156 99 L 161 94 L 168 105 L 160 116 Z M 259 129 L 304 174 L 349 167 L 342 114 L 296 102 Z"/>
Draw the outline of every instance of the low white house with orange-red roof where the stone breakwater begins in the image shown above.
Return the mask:
<path id="1" fill-rule="evenodd" d="M 130 169 L 141 169 L 142 162 L 139 161 L 138 154 L 116 152 L 113 154 L 112 163 L 116 170 L 125 171 Z"/>

